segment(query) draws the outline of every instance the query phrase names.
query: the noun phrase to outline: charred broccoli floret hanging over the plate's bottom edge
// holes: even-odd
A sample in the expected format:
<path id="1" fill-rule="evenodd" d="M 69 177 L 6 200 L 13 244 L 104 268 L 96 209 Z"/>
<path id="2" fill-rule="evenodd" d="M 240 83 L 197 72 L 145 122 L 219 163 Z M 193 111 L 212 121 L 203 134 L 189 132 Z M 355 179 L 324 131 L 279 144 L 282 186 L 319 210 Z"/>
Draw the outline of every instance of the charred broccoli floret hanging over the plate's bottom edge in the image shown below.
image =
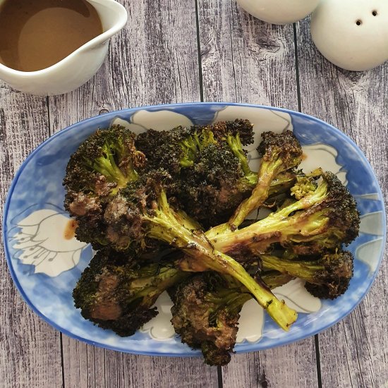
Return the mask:
<path id="1" fill-rule="evenodd" d="M 273 286 L 281 286 L 288 275 L 271 272 Z M 266 277 L 263 277 L 266 280 Z M 195 275 L 169 291 L 173 315 L 171 323 L 181 341 L 199 348 L 209 365 L 226 365 L 236 344 L 241 308 L 251 294 L 230 277 L 214 272 Z"/>

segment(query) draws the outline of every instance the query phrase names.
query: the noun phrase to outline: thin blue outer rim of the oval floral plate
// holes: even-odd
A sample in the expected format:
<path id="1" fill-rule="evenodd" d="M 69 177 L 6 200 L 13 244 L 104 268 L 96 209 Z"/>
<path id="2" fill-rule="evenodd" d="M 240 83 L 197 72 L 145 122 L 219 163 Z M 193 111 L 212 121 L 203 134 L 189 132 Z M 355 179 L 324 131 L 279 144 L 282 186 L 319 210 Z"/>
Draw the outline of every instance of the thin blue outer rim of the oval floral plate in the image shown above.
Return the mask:
<path id="1" fill-rule="evenodd" d="M 377 181 L 377 178 L 375 176 L 375 172 L 372 169 L 372 166 L 370 166 L 370 163 L 368 162 L 368 159 L 366 159 L 365 155 L 359 149 L 358 145 L 356 145 L 356 143 L 354 143 L 353 140 L 351 140 L 351 138 L 348 138 L 348 136 L 346 136 L 344 133 L 339 131 L 338 128 L 335 128 L 331 124 L 329 124 L 329 123 L 327 123 L 325 121 L 322 121 L 320 119 L 317 119 L 314 116 L 310 116 L 308 114 L 303 114 L 303 113 L 298 112 L 298 111 L 292 111 L 290 109 L 283 109 L 283 108 L 277 108 L 277 107 L 269 107 L 269 106 L 259 105 L 259 104 L 240 104 L 240 103 L 233 103 L 233 102 L 187 102 L 187 103 L 176 103 L 176 104 L 148 105 L 148 106 L 144 106 L 144 107 L 135 107 L 135 108 L 128 108 L 128 109 L 121 109 L 119 111 L 111 111 L 111 112 L 109 112 L 107 114 L 104 114 L 103 116 L 104 116 L 104 118 L 108 118 L 108 117 L 114 118 L 116 116 L 119 116 L 119 114 L 130 114 L 130 115 L 132 115 L 136 111 L 140 111 L 140 110 L 155 110 L 155 111 L 159 111 L 159 110 L 163 110 L 163 109 L 169 110 L 169 109 L 174 109 L 174 108 L 186 108 L 186 107 L 190 108 L 190 107 L 200 107 L 200 106 L 212 106 L 212 107 L 251 107 L 251 108 L 269 109 L 269 110 L 272 110 L 272 111 L 284 112 L 286 114 L 290 114 L 291 116 L 292 115 L 293 116 L 299 116 L 299 117 L 304 118 L 304 119 L 309 119 L 310 121 L 315 121 L 315 123 L 319 123 L 319 124 L 327 127 L 329 130 L 334 131 L 334 133 L 336 135 L 339 135 L 340 138 L 343 138 L 347 143 L 352 145 L 353 149 L 356 150 L 356 152 L 358 154 L 358 157 L 364 162 L 365 166 L 368 166 L 368 172 L 370 173 L 370 176 L 372 176 L 374 178 L 375 183 L 376 183 L 378 200 L 380 202 L 382 202 L 382 210 L 381 211 L 382 211 L 382 216 L 383 216 L 383 219 L 384 219 L 384 222 L 382 223 L 382 250 L 381 250 L 381 253 L 380 253 L 379 260 L 378 260 L 377 265 L 376 265 L 375 272 L 370 277 L 370 284 L 365 289 L 365 292 L 362 294 L 362 296 L 360 296 L 358 301 L 352 306 L 352 308 L 347 310 L 347 312 L 344 315 L 342 315 L 341 317 L 339 317 L 337 320 L 333 320 L 333 321 L 329 322 L 327 325 L 324 325 L 324 326 L 320 327 L 320 329 L 318 329 L 318 330 L 310 330 L 310 331 L 306 330 L 305 333 L 303 335 L 301 335 L 301 337 L 298 337 L 298 339 L 287 339 L 287 338 L 282 339 L 279 342 L 277 342 L 276 344 L 274 344 L 273 346 L 269 346 L 268 348 L 284 346 L 284 345 L 291 344 L 291 343 L 296 342 L 296 341 L 301 341 L 302 339 L 306 339 L 306 338 L 311 337 L 311 336 L 313 336 L 315 334 L 323 332 L 325 329 L 327 329 L 329 327 L 332 327 L 337 322 L 339 322 L 339 321 L 343 320 L 345 317 L 347 317 L 360 304 L 360 302 L 363 301 L 363 298 L 365 298 L 365 296 L 368 293 L 368 291 L 370 290 L 372 284 L 375 282 L 375 279 L 377 277 L 377 274 L 379 272 L 379 269 L 380 269 L 380 266 L 381 266 L 381 263 L 382 263 L 382 259 L 384 257 L 384 247 L 385 247 L 385 245 L 387 243 L 387 241 L 386 241 L 386 239 L 387 239 L 387 222 L 386 222 L 387 214 L 385 212 L 384 199 L 383 199 L 383 196 L 382 196 L 382 191 L 381 191 L 380 185 L 379 185 L 379 183 Z M 10 188 L 8 190 L 8 195 L 7 195 L 7 198 L 6 198 L 5 205 L 4 205 L 4 217 L 3 217 L 3 222 L 2 222 L 2 226 L 3 226 L 3 236 L 2 236 L 2 238 L 3 238 L 3 244 L 4 244 L 4 251 L 5 251 L 5 255 L 6 255 L 6 262 L 7 262 L 7 265 L 8 265 L 8 269 L 9 269 L 9 271 L 11 273 L 11 277 L 13 279 L 13 282 L 14 282 L 14 284 L 16 284 L 16 288 L 20 292 L 20 294 L 23 297 L 25 303 L 28 304 L 28 306 L 32 309 L 32 311 L 34 311 L 34 313 L 36 313 L 39 317 L 41 317 L 45 322 L 49 323 L 49 325 L 51 325 L 51 327 L 54 327 L 55 329 L 59 330 L 59 332 L 61 332 L 63 334 L 66 334 L 68 337 L 71 337 L 73 339 L 78 339 L 79 341 L 83 341 L 86 344 L 91 344 L 93 346 L 99 346 L 99 347 L 102 347 L 102 348 L 107 348 L 107 349 L 113 350 L 113 351 L 120 351 L 120 352 L 123 352 L 123 353 L 132 353 L 132 354 L 139 354 L 139 355 L 145 355 L 145 356 L 171 356 L 171 357 L 198 357 L 198 356 L 201 356 L 201 354 L 198 351 L 193 351 L 193 350 L 191 350 L 189 348 L 188 348 L 188 351 L 186 351 L 185 353 L 160 353 L 160 352 L 154 352 L 154 351 L 139 351 L 138 349 L 136 349 L 136 350 L 127 350 L 127 349 L 123 349 L 123 348 L 117 348 L 116 346 L 109 346 L 107 344 L 102 344 L 102 343 L 100 343 L 98 341 L 92 341 L 90 339 L 85 339 L 83 337 L 79 337 L 78 335 L 69 332 L 68 329 L 60 327 L 55 322 L 51 321 L 51 319 L 46 317 L 43 313 L 41 313 L 40 310 L 38 310 L 35 307 L 35 305 L 32 304 L 32 302 L 30 301 L 28 296 L 25 294 L 25 291 L 23 290 L 22 286 L 20 286 L 20 283 L 18 281 L 18 277 L 16 277 L 16 273 L 15 273 L 15 270 L 13 268 L 13 264 L 11 262 L 11 255 L 10 255 L 9 249 L 8 249 L 8 241 L 6 240 L 6 235 L 8 234 L 8 227 L 6 226 L 6 220 L 8 219 L 8 209 L 9 209 L 9 206 L 10 206 L 10 203 L 11 203 L 11 198 L 12 198 L 13 190 L 16 187 L 16 184 L 18 183 L 18 179 L 20 178 L 20 174 L 23 172 L 23 169 L 28 164 L 30 159 L 32 159 L 32 157 L 34 157 L 35 154 L 37 152 L 39 152 L 39 150 L 42 147 L 45 147 L 48 143 L 50 143 L 51 140 L 54 140 L 54 138 L 63 135 L 63 133 L 71 131 L 74 127 L 80 125 L 80 123 L 89 123 L 89 122 L 92 123 L 93 121 L 97 121 L 100 117 L 101 116 L 93 116 L 93 117 L 91 117 L 89 119 L 85 119 L 83 121 L 78 121 L 77 123 L 74 123 L 71 126 L 68 126 L 68 127 L 64 128 L 63 130 L 61 130 L 61 131 L 59 131 L 57 133 L 54 133 L 54 135 L 51 135 L 49 138 L 47 138 L 47 140 L 44 140 L 43 143 L 38 145 L 35 148 L 35 150 L 33 150 L 28 155 L 28 157 L 25 158 L 24 162 L 20 165 L 20 168 L 16 172 L 16 175 L 13 178 L 11 186 L 10 186 Z M 238 348 L 236 348 L 235 352 L 236 353 L 248 353 L 248 352 L 252 352 L 252 351 L 265 350 L 265 348 L 261 348 L 260 346 L 257 347 L 256 346 L 257 344 L 260 344 L 260 341 L 252 343 L 252 344 L 249 344 L 249 348 L 248 349 L 245 349 L 245 348 L 244 349 L 238 349 Z"/>

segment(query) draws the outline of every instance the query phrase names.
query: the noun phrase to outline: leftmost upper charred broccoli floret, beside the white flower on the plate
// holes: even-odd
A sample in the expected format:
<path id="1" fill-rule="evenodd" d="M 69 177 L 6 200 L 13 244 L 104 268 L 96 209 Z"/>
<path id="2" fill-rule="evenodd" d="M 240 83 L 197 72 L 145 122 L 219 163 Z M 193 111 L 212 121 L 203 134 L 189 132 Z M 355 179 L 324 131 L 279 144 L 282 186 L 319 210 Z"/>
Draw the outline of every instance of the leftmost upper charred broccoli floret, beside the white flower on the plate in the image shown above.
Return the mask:
<path id="1" fill-rule="evenodd" d="M 107 245 L 102 233 L 102 216 L 111 198 L 138 179 L 145 157 L 135 149 L 135 135 L 122 126 L 98 130 L 71 155 L 63 186 L 65 209 L 78 222 L 80 241 L 94 248 Z"/>

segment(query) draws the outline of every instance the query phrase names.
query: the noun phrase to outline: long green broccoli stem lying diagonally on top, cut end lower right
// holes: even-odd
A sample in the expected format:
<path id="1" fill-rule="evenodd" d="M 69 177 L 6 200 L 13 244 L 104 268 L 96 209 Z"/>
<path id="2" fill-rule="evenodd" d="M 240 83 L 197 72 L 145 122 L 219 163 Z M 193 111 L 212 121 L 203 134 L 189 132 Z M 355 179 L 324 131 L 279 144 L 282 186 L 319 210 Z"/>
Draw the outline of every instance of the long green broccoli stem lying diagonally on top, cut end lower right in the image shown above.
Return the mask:
<path id="1" fill-rule="evenodd" d="M 267 287 L 257 284 L 236 260 L 215 250 L 202 232 L 195 234 L 184 227 L 182 214 L 177 214 L 169 207 L 164 191 L 159 196 L 154 214 L 145 215 L 145 220 L 150 226 L 148 236 L 180 248 L 188 255 L 180 262 L 183 271 L 204 272 L 212 269 L 220 274 L 229 274 L 253 294 L 282 329 L 288 330 L 295 322 L 296 311 L 286 306 L 284 301 L 279 301 Z"/>

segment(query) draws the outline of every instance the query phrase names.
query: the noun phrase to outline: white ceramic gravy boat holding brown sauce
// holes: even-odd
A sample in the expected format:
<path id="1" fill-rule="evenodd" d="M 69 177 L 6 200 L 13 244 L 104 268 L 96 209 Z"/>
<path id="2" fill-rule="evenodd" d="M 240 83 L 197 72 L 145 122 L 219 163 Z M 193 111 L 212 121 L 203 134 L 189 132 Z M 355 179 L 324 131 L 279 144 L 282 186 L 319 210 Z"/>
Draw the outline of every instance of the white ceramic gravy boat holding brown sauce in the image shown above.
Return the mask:
<path id="1" fill-rule="evenodd" d="M 3 3 L 4 0 L 0 0 Z M 90 80 L 102 65 L 109 39 L 126 24 L 126 8 L 114 0 L 87 0 L 96 8 L 102 34 L 83 44 L 58 63 L 39 71 L 18 71 L 0 63 L 0 79 L 31 95 L 61 95 Z"/>

